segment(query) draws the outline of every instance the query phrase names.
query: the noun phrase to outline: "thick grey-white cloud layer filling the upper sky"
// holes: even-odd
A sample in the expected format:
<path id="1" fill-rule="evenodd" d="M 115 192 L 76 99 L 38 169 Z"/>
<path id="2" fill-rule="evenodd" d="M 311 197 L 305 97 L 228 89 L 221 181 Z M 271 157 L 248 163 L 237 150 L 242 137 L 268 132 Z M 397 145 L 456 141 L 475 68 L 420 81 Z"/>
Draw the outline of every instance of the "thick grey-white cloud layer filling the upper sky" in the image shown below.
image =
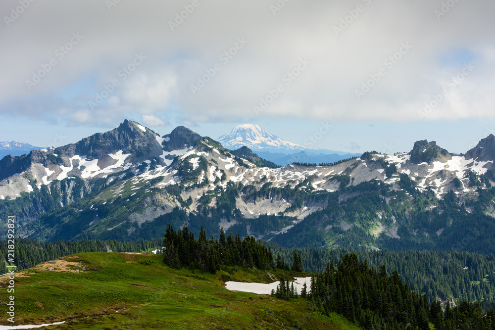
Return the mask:
<path id="1" fill-rule="evenodd" d="M 0 30 L 0 114 L 79 125 L 174 109 L 191 122 L 225 121 L 255 117 L 252 106 L 282 84 L 261 117 L 420 120 L 424 103 L 462 69 L 443 56 L 465 49 L 476 69 L 426 119 L 495 117 L 493 1 L 458 1 L 440 20 L 441 0 L 290 1 L 275 15 L 275 0 L 199 3 L 172 31 L 169 20 L 190 1 L 120 1 L 111 10 L 97 0 L 33 2 Z M 336 36 L 334 25 L 358 4 L 364 10 Z M 14 5 L 3 1 L 0 11 Z M 84 37 L 57 57 L 73 33 Z M 242 37 L 247 44 L 224 63 Z M 412 48 L 388 68 L 384 60 L 406 42 Z M 136 53 L 146 60 L 124 79 Z M 56 65 L 29 90 L 26 80 L 51 58 Z M 311 64 L 287 85 L 284 76 L 301 58 Z M 193 95 L 191 85 L 217 63 Z M 355 90 L 381 68 L 385 75 L 358 100 Z M 92 109 L 88 102 L 114 80 L 118 86 Z"/>

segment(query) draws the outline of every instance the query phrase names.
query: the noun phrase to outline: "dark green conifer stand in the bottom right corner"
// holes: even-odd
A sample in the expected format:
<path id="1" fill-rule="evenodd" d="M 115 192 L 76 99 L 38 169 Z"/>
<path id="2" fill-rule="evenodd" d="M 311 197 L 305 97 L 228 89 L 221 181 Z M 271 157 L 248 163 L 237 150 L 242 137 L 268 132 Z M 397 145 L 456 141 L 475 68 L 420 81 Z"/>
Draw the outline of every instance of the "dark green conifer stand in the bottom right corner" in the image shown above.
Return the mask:
<path id="1" fill-rule="evenodd" d="M 367 330 L 430 330 L 430 325 L 436 330 L 495 329 L 493 307 L 484 312 L 478 302 L 453 307 L 447 302 L 445 308 L 437 299 L 429 303 L 426 294 L 411 290 L 396 270 L 388 276 L 385 265 L 370 268 L 366 261 L 359 263 L 356 254 L 346 254 L 337 268 L 332 260 L 324 272 L 316 272 L 307 298 L 313 310 L 339 313 Z"/>

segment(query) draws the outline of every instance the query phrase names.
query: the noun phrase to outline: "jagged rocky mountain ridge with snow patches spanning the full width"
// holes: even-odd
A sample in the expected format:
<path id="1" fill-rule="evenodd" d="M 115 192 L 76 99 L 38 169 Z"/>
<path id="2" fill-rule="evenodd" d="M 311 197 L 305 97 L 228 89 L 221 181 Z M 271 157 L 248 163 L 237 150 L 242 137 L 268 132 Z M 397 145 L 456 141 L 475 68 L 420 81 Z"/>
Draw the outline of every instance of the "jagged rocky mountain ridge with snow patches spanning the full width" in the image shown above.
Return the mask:
<path id="1" fill-rule="evenodd" d="M 476 159 L 417 141 L 408 153 L 277 168 L 247 147 L 229 150 L 184 127 L 160 137 L 127 121 L 73 144 L 2 159 L 15 173 L 0 180 L 0 216 L 16 214 L 18 233 L 41 240 L 155 238 L 168 223 L 187 222 L 195 235 L 201 226 L 223 227 L 281 244 L 445 248 L 460 235 L 453 228 L 468 220 L 492 226 L 493 138 L 480 143 L 466 152 Z M 420 221 L 424 216 L 430 220 Z M 294 240 L 299 233 L 309 236 Z"/>

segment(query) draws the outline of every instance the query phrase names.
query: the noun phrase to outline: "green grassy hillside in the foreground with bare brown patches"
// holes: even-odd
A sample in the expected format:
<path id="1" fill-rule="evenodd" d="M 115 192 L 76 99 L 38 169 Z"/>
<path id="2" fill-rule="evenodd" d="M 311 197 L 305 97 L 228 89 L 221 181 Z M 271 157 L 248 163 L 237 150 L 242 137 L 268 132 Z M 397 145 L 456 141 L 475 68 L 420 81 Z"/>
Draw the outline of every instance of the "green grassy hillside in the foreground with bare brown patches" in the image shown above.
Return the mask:
<path id="1" fill-rule="evenodd" d="M 313 313 L 305 299 L 231 292 L 222 286 L 231 280 L 271 282 L 265 271 L 234 267 L 215 275 L 177 271 L 165 266 L 161 255 L 78 253 L 16 273 L 15 325 L 66 321 L 47 329 L 358 329 L 337 314 Z M 1 282 L 5 299 L 5 276 Z M 5 317 L 0 323 L 12 325 Z"/>

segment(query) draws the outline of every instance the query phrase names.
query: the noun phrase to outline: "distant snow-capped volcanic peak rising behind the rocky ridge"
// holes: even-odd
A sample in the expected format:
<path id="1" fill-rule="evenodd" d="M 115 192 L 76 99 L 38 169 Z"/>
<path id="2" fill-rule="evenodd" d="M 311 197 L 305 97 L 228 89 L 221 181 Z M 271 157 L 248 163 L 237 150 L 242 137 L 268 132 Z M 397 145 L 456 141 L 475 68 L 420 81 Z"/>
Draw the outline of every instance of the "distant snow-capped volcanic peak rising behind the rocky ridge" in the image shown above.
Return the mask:
<path id="1" fill-rule="evenodd" d="M 238 125 L 234 127 L 232 131 L 222 135 L 216 140 L 228 149 L 239 149 L 243 146 L 261 151 L 308 149 L 305 146 L 285 141 L 254 124 Z"/>

